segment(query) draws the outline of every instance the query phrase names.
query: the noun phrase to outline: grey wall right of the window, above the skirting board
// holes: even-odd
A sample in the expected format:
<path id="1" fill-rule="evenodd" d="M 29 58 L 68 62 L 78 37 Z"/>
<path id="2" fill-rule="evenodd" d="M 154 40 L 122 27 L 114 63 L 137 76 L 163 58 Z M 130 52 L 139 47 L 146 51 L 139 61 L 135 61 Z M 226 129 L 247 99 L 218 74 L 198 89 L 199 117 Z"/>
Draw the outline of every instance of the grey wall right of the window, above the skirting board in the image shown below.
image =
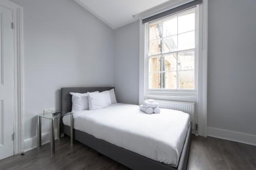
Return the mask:
<path id="1" fill-rule="evenodd" d="M 256 1 L 208 3 L 208 126 L 256 135 Z"/>

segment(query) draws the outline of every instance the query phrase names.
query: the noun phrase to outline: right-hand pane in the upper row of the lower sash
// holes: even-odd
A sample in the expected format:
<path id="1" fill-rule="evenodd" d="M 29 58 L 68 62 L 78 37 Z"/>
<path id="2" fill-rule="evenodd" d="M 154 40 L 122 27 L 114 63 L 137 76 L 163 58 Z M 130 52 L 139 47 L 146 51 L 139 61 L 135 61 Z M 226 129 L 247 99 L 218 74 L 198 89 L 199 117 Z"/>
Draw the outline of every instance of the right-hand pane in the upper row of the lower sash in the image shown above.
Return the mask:
<path id="1" fill-rule="evenodd" d="M 178 54 L 178 70 L 195 69 L 195 52 Z"/>

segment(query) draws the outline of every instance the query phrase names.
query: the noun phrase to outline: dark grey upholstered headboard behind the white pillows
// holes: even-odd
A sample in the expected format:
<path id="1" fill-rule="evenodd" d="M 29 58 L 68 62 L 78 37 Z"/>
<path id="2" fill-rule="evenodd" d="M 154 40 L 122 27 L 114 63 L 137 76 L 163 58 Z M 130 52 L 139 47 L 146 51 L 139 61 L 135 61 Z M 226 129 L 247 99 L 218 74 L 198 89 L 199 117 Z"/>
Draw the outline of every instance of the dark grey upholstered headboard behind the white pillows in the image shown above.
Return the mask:
<path id="1" fill-rule="evenodd" d="M 72 96 L 70 92 L 77 93 L 86 93 L 93 91 L 105 91 L 111 90 L 114 87 L 63 87 L 61 88 L 61 114 L 65 115 L 66 113 L 72 110 Z"/>

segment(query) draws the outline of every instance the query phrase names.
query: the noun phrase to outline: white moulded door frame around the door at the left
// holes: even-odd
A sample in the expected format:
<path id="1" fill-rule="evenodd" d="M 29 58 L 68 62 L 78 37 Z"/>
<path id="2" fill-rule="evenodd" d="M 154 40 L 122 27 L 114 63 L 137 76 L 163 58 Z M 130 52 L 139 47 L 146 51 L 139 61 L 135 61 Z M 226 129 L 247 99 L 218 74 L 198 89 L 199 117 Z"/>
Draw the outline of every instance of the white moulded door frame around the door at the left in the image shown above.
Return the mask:
<path id="1" fill-rule="evenodd" d="M 23 8 L 9 0 L 1 0 L 0 5 L 12 10 L 14 23 L 14 155 L 24 152 L 24 40 Z M 11 25 L 10 25 L 11 27 Z"/>

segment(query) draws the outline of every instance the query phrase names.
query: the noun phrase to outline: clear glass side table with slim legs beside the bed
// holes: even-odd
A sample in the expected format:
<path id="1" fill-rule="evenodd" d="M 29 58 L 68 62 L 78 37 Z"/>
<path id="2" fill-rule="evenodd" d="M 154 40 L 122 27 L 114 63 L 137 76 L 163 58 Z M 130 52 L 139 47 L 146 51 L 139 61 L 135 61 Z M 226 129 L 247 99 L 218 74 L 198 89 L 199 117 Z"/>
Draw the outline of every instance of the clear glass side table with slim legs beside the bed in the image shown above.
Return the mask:
<path id="1" fill-rule="evenodd" d="M 51 143 L 51 155 L 55 154 L 55 137 L 54 137 L 54 119 L 57 119 L 57 127 L 58 127 L 58 139 L 60 139 L 60 128 L 61 128 L 61 117 L 63 116 L 67 116 L 70 115 L 70 143 L 71 145 L 73 145 L 73 136 L 74 136 L 74 117 L 73 117 L 73 113 L 69 112 L 65 115 L 61 115 L 61 112 L 55 112 L 55 113 L 50 113 L 50 114 L 39 114 L 38 115 L 38 123 L 37 123 L 37 131 L 38 131 L 38 135 L 37 135 L 37 148 L 40 149 L 41 148 L 41 118 L 47 118 L 50 120 L 50 143 Z"/>

